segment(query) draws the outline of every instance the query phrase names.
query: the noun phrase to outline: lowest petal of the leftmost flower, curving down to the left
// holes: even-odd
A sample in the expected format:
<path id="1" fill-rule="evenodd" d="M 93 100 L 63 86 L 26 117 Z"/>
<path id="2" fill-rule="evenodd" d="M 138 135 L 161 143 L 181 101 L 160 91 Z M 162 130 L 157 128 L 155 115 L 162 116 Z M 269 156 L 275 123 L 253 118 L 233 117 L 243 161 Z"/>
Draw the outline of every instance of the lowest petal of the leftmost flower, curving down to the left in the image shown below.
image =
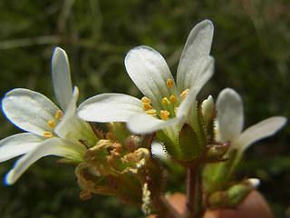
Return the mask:
<path id="1" fill-rule="evenodd" d="M 13 184 L 34 162 L 47 155 L 57 155 L 82 161 L 86 148 L 59 138 L 45 140 L 28 154 L 25 154 L 14 163 L 14 168 L 5 176 L 6 184 Z"/>

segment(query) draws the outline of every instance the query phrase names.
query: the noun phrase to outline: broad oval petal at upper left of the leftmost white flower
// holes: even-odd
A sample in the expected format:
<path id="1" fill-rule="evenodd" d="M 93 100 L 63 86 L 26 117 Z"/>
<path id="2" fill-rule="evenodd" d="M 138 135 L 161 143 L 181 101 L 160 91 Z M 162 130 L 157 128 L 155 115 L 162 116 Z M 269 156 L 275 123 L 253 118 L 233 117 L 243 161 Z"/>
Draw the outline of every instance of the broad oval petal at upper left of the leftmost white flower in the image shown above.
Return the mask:
<path id="1" fill-rule="evenodd" d="M 5 94 L 2 109 L 13 124 L 33 134 L 53 132 L 47 122 L 58 122 L 54 115 L 59 108 L 43 94 L 29 89 L 14 89 Z"/>

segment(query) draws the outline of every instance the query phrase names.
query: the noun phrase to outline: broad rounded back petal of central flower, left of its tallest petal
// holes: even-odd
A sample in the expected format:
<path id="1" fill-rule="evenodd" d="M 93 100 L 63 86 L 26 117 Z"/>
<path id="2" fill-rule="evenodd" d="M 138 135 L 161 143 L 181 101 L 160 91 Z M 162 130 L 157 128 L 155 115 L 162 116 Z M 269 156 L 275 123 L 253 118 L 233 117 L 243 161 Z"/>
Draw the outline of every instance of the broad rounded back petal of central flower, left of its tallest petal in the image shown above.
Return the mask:
<path id="1" fill-rule="evenodd" d="M 169 66 L 154 49 L 148 46 L 133 48 L 125 57 L 125 66 L 132 81 L 142 94 L 150 98 L 156 110 L 163 108 L 163 97 L 169 98 L 171 94 L 176 94 L 176 85 L 171 93 L 167 87 L 168 79 L 174 82 Z"/>

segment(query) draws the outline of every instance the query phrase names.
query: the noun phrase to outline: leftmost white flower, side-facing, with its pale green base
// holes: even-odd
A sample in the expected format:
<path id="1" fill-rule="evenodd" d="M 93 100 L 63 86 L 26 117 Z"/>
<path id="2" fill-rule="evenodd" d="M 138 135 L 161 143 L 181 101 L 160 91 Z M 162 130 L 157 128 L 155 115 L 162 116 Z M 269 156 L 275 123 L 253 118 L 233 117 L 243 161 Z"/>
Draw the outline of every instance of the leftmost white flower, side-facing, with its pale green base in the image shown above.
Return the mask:
<path id="1" fill-rule="evenodd" d="M 46 155 L 81 162 L 85 145 L 98 141 L 91 126 L 76 116 L 79 91 L 77 87 L 73 91 L 68 58 L 61 48 L 54 50 L 52 67 L 53 88 L 63 111 L 43 94 L 23 88 L 8 92 L 2 100 L 6 117 L 28 132 L 0 141 L 0 162 L 25 154 L 7 173 L 7 184 L 14 183 L 31 164 Z"/>

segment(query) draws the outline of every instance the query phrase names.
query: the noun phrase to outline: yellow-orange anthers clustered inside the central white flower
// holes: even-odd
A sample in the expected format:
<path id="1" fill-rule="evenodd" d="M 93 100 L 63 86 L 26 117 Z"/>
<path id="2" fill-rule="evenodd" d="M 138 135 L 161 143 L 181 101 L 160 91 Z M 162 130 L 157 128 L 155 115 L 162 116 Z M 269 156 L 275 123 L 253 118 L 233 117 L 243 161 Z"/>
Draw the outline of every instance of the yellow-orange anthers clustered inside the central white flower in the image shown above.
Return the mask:
<path id="1" fill-rule="evenodd" d="M 170 93 L 174 93 L 174 91 L 170 90 L 174 87 L 172 79 L 167 80 L 166 86 L 169 88 Z M 179 96 L 174 94 L 164 96 L 161 100 L 161 106 L 163 106 L 159 112 L 152 107 L 151 100 L 148 97 L 142 97 L 141 102 L 143 103 L 143 108 L 145 109 L 146 114 L 159 117 L 161 120 L 168 120 L 169 118 L 176 116 L 179 104 L 185 99 L 187 94 L 189 94 L 189 89 L 184 90 Z"/>

